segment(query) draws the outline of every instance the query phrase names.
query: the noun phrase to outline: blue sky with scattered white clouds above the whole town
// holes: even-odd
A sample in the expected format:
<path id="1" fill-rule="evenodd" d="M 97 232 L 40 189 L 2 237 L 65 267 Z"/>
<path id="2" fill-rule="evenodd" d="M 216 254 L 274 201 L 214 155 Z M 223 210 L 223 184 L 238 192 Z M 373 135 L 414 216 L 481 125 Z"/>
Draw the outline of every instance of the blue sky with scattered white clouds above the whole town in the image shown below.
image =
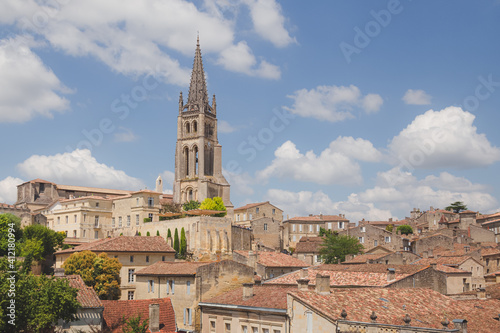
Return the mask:
<path id="1" fill-rule="evenodd" d="M 235 206 L 499 211 L 499 14 L 498 1 L 2 1 L 0 201 L 34 178 L 171 184 L 199 32 Z"/>

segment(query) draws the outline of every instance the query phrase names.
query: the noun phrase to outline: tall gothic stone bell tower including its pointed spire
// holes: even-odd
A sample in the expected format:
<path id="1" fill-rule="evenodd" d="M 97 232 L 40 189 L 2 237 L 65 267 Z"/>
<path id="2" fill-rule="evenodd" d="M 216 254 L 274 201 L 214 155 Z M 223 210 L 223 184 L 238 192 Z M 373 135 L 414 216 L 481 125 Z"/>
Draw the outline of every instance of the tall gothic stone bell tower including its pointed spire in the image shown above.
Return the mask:
<path id="1" fill-rule="evenodd" d="M 174 202 L 221 197 L 228 213 L 232 212 L 229 183 L 222 175 L 221 148 L 215 95 L 210 105 L 198 38 L 186 104 L 182 92 L 179 97 Z"/>

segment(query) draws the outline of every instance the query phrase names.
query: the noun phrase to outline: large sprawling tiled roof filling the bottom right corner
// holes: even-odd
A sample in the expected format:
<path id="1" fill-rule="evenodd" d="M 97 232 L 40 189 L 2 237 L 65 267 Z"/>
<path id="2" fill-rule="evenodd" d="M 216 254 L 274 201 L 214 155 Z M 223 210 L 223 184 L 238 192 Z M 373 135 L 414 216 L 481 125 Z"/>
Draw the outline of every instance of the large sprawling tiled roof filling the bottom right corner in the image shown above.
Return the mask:
<path id="1" fill-rule="evenodd" d="M 500 332 L 498 318 L 500 301 L 458 301 L 431 289 L 392 288 L 340 288 L 329 295 L 319 295 L 314 291 L 291 291 L 292 297 L 309 305 L 317 312 L 336 321 L 342 319 L 340 313 L 347 312 L 346 320 L 371 322 L 375 311 L 377 323 L 404 325 L 406 314 L 411 326 L 442 328 L 444 316 L 466 319 L 470 332 Z M 450 324 L 449 329 L 452 328 Z"/>

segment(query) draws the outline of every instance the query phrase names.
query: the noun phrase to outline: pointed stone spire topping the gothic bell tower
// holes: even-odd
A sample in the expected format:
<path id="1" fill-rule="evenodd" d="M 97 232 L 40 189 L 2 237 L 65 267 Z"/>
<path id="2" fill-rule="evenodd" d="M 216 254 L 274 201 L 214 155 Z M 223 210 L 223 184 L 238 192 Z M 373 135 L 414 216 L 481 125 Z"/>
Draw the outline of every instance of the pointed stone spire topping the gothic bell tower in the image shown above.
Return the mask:
<path id="1" fill-rule="evenodd" d="M 189 95 L 187 105 L 198 105 L 201 109 L 208 111 L 207 83 L 205 82 L 205 72 L 201 60 L 200 37 L 196 41 L 196 51 L 194 54 L 193 72 L 191 73 L 191 84 L 189 85 Z"/>

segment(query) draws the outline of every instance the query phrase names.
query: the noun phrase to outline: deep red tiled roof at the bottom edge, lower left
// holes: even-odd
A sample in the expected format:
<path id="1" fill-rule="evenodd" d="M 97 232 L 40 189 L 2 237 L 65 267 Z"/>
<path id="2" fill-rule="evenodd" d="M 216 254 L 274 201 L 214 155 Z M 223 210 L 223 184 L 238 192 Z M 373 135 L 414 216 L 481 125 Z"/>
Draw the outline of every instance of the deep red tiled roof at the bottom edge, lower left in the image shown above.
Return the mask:
<path id="1" fill-rule="evenodd" d="M 104 323 L 112 332 L 122 332 L 123 321 L 141 315 L 141 319 L 149 319 L 149 305 L 160 305 L 160 332 L 176 332 L 175 313 L 170 298 L 102 301 L 104 304 Z"/>

